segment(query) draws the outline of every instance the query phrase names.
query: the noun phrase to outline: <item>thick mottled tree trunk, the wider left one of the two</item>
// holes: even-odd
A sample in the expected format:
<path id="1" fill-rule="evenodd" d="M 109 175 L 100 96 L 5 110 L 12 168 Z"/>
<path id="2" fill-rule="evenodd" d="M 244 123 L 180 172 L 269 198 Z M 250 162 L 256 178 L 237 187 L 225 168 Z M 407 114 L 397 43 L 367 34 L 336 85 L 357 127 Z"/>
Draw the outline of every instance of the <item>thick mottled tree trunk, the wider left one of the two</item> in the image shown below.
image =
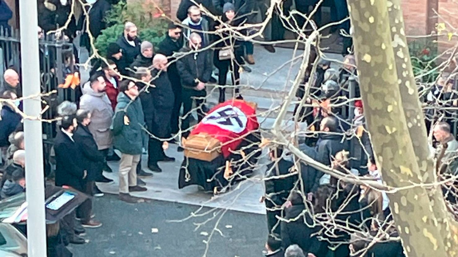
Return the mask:
<path id="1" fill-rule="evenodd" d="M 423 141 L 425 135 L 420 132 L 424 129 L 424 123 L 421 121 L 423 115 L 418 98 L 412 101 L 407 97 L 407 110 L 404 112 L 404 99 L 401 94 L 405 94 L 406 91 L 409 95 L 417 94 L 415 94 L 413 80 L 408 78 L 412 76 L 412 72 L 405 71 L 407 63 L 410 63 L 408 52 L 401 54 L 402 50 L 396 52 L 396 55 L 402 57 L 405 62 L 404 66 L 399 63 L 404 70 L 398 78 L 387 8 L 393 5 L 393 2 L 387 0 L 349 0 L 348 2 L 354 26 L 354 49 L 361 97 L 383 179 L 387 185 L 394 188 L 432 181 L 434 170 L 428 168 L 428 161 L 431 158 L 428 156 L 429 152 L 427 149 L 426 152 L 422 152 L 421 156 L 424 159 L 417 162 L 418 156 L 414 150 L 414 144 L 415 147 L 418 145 L 423 150 L 425 150 L 423 147 L 427 147 L 427 142 Z M 407 87 L 401 90 L 402 82 L 404 87 Z M 412 121 L 415 121 L 414 124 Z M 414 126 L 416 128 L 413 129 Z M 409 128 L 411 131 L 419 132 L 420 138 L 415 138 L 413 141 Z M 455 256 L 447 251 L 453 248 L 449 240 L 455 235 L 450 233 L 451 238 L 448 239 L 442 236 L 441 229 L 448 229 L 448 226 L 447 223 L 444 223 L 444 226 L 439 226 L 438 223 L 447 220 L 439 221 L 433 210 L 443 206 L 443 198 L 435 199 L 438 202 L 430 201 L 429 190 L 416 186 L 388 195 L 403 247 L 410 257 Z"/>

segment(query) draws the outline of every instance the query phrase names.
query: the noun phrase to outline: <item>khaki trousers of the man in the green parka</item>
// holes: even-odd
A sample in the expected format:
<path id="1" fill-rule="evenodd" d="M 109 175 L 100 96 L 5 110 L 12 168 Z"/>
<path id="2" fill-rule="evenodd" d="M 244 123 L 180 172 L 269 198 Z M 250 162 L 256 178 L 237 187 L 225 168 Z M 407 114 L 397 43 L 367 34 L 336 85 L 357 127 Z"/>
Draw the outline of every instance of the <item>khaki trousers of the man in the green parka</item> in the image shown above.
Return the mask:
<path id="1" fill-rule="evenodd" d="M 140 161 L 140 154 L 121 154 L 119 164 L 119 192 L 129 194 L 129 187 L 137 185 L 137 164 Z"/>

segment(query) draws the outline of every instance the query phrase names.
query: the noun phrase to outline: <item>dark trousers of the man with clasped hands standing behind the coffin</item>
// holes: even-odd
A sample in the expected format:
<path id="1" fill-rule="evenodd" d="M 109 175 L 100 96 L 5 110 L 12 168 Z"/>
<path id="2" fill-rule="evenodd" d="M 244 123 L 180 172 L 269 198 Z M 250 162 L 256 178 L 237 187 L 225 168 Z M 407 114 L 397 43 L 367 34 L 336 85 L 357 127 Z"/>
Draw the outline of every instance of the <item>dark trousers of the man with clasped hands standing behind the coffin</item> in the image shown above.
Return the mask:
<path id="1" fill-rule="evenodd" d="M 187 89 L 183 88 L 181 99 L 183 100 L 183 117 L 181 121 L 181 131 L 183 133 L 183 136 L 187 137 L 190 133 L 189 131 L 189 120 L 191 116 L 191 110 L 192 110 L 192 101 L 193 99 L 196 100 L 196 106 L 197 106 L 197 117 L 198 121 L 202 121 L 203 117 L 205 116 L 205 113 L 202 110 L 203 103 L 204 103 L 204 98 L 207 95 L 207 92 L 205 89 L 201 91 L 197 91 L 194 89 Z"/>

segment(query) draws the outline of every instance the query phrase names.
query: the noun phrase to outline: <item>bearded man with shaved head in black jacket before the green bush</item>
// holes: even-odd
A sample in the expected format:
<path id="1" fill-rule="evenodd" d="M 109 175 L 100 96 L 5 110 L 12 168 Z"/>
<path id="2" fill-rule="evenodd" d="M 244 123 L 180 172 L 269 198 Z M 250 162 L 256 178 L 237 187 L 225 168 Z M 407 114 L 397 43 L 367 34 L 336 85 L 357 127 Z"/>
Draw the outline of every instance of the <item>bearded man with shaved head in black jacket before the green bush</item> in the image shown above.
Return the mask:
<path id="1" fill-rule="evenodd" d="M 134 59 L 141 53 L 141 40 L 137 37 L 137 26 L 130 21 L 124 24 L 124 34 L 118 38 L 116 43 L 122 49 L 122 55 L 126 67 L 129 67 Z"/>

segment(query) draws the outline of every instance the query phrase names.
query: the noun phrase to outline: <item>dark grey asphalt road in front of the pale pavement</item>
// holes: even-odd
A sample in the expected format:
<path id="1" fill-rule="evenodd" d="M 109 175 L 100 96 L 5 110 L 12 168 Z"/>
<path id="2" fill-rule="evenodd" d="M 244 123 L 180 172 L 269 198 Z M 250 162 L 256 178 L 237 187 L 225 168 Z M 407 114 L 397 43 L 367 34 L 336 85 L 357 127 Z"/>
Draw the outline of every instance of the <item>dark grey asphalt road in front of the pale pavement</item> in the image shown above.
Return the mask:
<path id="1" fill-rule="evenodd" d="M 211 212 L 202 217 L 181 220 L 196 212 L 199 206 L 148 200 L 127 204 L 116 195 L 105 194 L 93 204 L 96 219 L 103 226 L 87 229 L 84 245 L 70 245 L 74 257 L 202 257 L 208 236 L 220 218 L 219 214 L 195 231 L 194 223 L 213 217 Z M 204 208 L 203 211 L 210 210 Z M 219 221 L 222 232 L 213 234 L 207 257 L 263 256 L 267 238 L 265 215 L 227 211 Z"/>

